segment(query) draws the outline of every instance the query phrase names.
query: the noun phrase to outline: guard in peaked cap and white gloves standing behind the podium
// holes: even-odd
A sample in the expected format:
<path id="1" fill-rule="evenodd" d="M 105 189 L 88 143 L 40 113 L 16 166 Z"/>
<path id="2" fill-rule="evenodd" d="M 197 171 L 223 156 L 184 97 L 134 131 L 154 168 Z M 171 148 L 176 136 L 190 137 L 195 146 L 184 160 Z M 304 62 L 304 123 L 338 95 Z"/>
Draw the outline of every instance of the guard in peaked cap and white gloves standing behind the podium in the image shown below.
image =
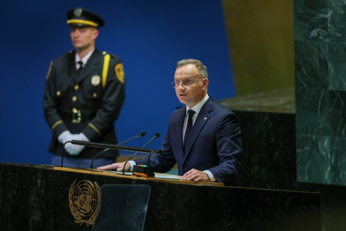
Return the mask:
<path id="1" fill-rule="evenodd" d="M 103 19 L 84 8 L 67 12 L 74 51 L 55 58 L 48 70 L 44 113 L 53 132 L 49 151 L 52 165 L 61 165 L 63 144 L 83 140 L 117 144 L 114 122 L 125 99 L 124 68 L 120 59 L 95 47 Z M 64 166 L 90 167 L 101 150 L 65 144 Z M 95 167 L 111 164 L 117 150 L 95 159 Z"/>

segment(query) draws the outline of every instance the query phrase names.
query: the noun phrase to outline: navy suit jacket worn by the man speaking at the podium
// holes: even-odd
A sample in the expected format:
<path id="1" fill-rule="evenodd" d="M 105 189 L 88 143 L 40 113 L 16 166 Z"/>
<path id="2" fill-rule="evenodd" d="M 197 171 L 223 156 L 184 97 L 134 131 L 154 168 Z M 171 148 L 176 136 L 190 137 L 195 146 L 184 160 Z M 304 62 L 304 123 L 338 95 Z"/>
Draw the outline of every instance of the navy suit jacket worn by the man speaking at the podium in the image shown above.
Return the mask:
<path id="1" fill-rule="evenodd" d="M 186 106 L 174 111 L 160 155 L 151 155 L 150 167 L 165 173 L 177 163 L 179 175 L 192 168 L 209 170 L 218 182 L 236 185 L 241 171 L 242 140 L 236 115 L 213 101 L 204 103 L 193 124 L 184 154 L 182 129 Z M 136 164 L 147 165 L 147 158 L 136 159 Z"/>

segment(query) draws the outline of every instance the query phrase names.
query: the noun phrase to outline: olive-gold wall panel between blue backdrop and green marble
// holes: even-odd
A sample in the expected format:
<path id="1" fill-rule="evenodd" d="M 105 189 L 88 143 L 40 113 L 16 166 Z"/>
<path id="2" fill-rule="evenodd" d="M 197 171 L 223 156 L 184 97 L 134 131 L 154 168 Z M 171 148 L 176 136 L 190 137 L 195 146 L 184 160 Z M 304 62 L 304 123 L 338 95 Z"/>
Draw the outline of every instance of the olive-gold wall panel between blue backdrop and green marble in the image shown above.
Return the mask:
<path id="1" fill-rule="evenodd" d="M 223 6 L 237 95 L 294 87 L 293 1 Z"/>

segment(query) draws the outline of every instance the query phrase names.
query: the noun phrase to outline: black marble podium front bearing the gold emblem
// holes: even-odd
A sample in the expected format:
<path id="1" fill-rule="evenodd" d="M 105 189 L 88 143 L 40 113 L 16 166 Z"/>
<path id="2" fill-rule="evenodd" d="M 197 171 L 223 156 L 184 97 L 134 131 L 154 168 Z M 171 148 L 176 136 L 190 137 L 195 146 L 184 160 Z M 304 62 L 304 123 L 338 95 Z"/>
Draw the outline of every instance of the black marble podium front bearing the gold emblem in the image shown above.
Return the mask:
<path id="1" fill-rule="evenodd" d="M 0 163 L 0 230 L 92 230 L 76 223 L 69 207 L 71 184 L 83 180 L 100 186 L 149 185 L 144 230 L 321 230 L 318 193 L 10 163 Z"/>

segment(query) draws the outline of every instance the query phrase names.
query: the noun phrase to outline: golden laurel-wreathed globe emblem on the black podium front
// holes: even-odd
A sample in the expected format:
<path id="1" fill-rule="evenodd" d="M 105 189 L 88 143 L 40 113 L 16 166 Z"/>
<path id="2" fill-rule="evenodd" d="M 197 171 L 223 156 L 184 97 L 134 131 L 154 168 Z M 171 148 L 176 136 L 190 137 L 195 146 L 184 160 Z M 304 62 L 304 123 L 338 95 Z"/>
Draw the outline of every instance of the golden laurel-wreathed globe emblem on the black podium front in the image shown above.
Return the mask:
<path id="1" fill-rule="evenodd" d="M 93 225 L 101 210 L 100 186 L 90 181 L 76 180 L 71 184 L 69 190 L 69 206 L 75 219 L 74 222 Z"/>

